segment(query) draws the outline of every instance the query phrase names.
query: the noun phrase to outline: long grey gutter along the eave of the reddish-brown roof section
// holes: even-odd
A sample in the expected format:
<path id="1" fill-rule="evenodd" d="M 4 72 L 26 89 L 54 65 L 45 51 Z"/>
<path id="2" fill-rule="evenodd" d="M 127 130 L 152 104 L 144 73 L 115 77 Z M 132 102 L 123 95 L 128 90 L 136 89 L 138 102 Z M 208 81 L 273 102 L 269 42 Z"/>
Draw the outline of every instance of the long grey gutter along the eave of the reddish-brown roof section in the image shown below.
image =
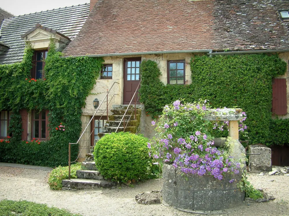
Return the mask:
<path id="1" fill-rule="evenodd" d="M 60 58 L 77 58 L 77 57 L 110 57 L 110 56 L 141 56 L 141 55 L 158 55 L 171 53 L 209 53 L 212 50 L 173 50 L 173 51 L 152 51 L 152 52 L 126 52 L 126 53 L 112 53 L 112 54 L 98 54 L 98 55 L 80 55 L 80 56 L 62 56 Z"/>

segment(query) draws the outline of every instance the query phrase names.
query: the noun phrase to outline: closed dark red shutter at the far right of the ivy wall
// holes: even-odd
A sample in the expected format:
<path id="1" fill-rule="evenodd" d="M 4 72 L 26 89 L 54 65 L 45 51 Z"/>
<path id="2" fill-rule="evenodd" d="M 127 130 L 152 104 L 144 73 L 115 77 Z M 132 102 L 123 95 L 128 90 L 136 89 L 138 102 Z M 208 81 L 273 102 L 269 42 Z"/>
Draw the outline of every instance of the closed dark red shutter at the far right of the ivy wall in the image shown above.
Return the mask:
<path id="1" fill-rule="evenodd" d="M 274 79 L 272 84 L 272 112 L 276 115 L 287 114 L 286 79 Z"/>

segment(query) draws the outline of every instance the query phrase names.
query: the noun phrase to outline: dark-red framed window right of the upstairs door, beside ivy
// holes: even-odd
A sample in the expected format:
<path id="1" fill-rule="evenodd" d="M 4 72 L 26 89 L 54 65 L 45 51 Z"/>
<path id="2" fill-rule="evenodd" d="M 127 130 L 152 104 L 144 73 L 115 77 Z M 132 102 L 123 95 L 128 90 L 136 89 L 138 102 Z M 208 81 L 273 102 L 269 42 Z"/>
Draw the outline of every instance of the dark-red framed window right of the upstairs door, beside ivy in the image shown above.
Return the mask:
<path id="1" fill-rule="evenodd" d="M 185 60 L 168 61 L 168 84 L 185 84 Z"/>

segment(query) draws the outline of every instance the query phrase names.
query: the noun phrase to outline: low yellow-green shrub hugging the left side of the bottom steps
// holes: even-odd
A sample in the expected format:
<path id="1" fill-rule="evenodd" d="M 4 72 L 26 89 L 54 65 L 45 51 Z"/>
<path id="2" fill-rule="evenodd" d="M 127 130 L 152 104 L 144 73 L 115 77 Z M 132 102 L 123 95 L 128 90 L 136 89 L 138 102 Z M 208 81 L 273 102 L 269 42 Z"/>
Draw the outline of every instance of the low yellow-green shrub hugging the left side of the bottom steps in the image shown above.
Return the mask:
<path id="1" fill-rule="evenodd" d="M 81 170 L 81 163 L 71 164 L 70 177 L 77 178 L 76 170 Z M 58 166 L 49 173 L 48 184 L 50 189 L 61 190 L 62 180 L 68 179 L 68 166 Z"/>

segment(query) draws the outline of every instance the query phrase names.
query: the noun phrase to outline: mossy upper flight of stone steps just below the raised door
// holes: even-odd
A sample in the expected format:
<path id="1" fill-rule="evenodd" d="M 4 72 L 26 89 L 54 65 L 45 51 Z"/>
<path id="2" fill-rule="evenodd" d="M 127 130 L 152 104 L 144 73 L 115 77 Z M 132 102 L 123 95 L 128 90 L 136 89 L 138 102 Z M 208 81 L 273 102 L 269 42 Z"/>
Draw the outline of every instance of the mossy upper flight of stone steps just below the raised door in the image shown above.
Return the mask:
<path id="1" fill-rule="evenodd" d="M 101 138 L 105 134 L 110 134 L 116 131 L 119 122 L 123 118 L 125 110 L 127 109 L 128 105 L 112 105 L 112 115 L 108 116 L 108 121 L 106 122 L 105 126 L 101 128 L 101 133 L 98 136 Z M 134 118 L 134 105 L 130 105 L 127 113 L 125 115 L 125 132 L 136 133 L 138 132 L 138 126 L 140 125 L 140 115 L 142 111 L 143 105 L 136 105 L 136 118 Z M 132 115 L 131 115 L 132 113 Z M 130 118 L 130 119 L 129 119 Z M 129 122 L 127 123 L 127 121 Z M 121 123 L 120 127 L 118 128 L 117 132 L 123 131 L 123 122 Z"/>

